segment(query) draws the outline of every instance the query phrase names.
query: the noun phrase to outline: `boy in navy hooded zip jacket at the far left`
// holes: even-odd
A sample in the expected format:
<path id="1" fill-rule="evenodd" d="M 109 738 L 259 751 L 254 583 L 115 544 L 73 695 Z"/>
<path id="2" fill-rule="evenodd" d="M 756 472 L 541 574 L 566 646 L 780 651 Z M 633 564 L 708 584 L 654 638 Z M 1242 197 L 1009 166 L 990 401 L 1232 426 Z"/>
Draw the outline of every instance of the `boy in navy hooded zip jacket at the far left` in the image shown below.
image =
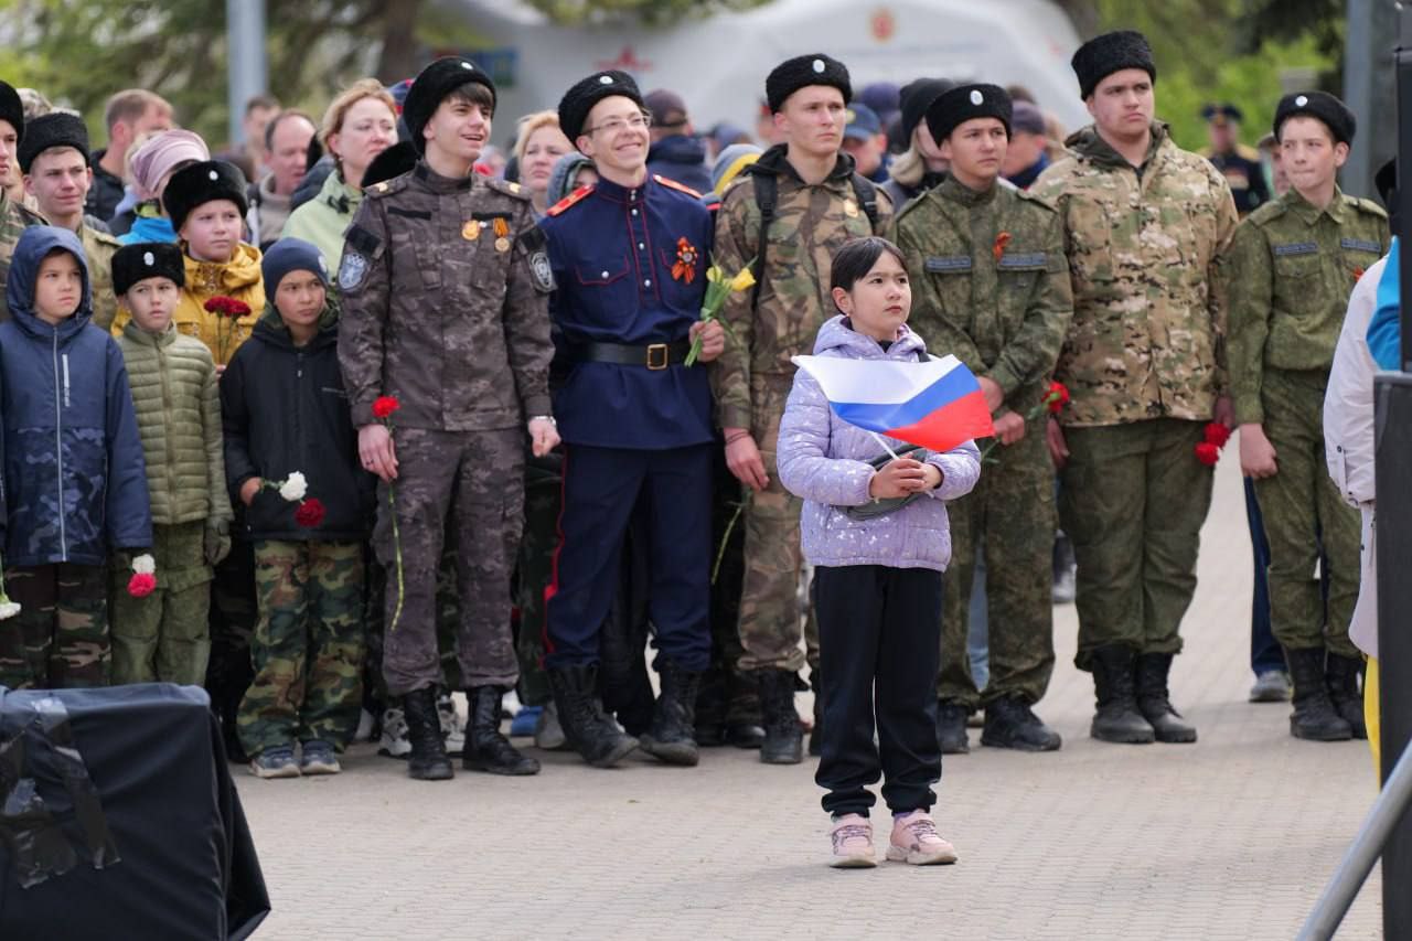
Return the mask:
<path id="1" fill-rule="evenodd" d="M 6 301 L 0 537 L 20 613 L 0 622 L 0 685 L 106 685 L 106 564 L 110 554 L 126 564 L 152 541 L 123 353 L 89 324 L 88 260 L 72 232 L 24 230 Z"/>

